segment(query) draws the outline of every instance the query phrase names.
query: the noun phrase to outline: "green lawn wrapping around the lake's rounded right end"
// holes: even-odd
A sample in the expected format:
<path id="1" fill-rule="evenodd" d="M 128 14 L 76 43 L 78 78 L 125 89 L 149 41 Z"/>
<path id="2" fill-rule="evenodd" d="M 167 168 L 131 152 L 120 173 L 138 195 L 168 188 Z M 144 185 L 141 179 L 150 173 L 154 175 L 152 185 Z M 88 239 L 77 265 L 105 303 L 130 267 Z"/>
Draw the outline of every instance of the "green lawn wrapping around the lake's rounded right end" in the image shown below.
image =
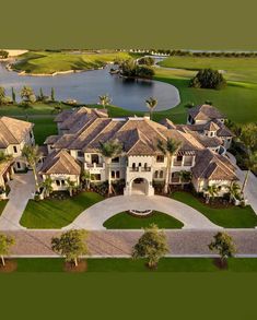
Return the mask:
<path id="1" fill-rule="evenodd" d="M 257 60 L 257 59 L 256 59 Z M 190 75 L 191 78 L 191 75 Z M 156 68 L 155 79 L 175 85 L 179 90 L 180 104 L 166 111 L 154 112 L 154 119 L 167 117 L 176 123 L 185 123 L 188 109 L 187 103 L 195 105 L 206 100 L 219 108 L 226 117 L 238 123 L 257 121 L 257 84 L 230 82 L 223 90 L 189 87 L 189 78 L 177 75 L 177 71 Z"/>

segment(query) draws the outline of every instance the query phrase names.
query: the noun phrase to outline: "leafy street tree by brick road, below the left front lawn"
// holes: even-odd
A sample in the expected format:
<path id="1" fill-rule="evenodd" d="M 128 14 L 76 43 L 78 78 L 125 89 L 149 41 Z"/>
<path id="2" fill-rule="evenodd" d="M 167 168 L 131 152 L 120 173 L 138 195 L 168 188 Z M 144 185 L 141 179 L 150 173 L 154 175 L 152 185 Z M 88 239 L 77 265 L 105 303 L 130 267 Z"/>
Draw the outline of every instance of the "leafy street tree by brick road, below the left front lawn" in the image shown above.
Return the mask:
<path id="1" fill-rule="evenodd" d="M 51 239 L 51 249 L 63 256 L 67 262 L 73 262 L 78 266 L 78 259 L 81 256 L 89 254 L 86 246 L 87 233 L 85 230 L 69 230 L 59 238 Z"/>

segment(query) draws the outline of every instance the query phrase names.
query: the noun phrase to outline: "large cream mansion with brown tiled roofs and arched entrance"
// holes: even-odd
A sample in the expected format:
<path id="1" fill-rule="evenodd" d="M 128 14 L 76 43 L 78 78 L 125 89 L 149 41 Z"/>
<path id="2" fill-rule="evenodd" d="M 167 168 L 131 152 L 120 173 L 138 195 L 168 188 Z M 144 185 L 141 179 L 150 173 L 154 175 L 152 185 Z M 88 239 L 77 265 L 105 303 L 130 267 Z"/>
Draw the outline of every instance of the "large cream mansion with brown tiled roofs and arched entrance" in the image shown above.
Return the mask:
<path id="1" fill-rule="evenodd" d="M 176 126 L 168 119 L 157 123 L 149 117 L 108 118 L 105 111 L 98 114 L 93 109 L 90 112 L 89 108 L 63 111 L 56 120 L 59 134 L 49 137 L 45 142 L 48 155 L 40 174 L 43 179 L 47 175 L 51 176 L 55 190 L 63 190 L 68 186 L 67 177 L 74 176 L 73 179 L 79 183 L 80 163 L 82 170 L 90 173 L 92 182 L 103 182 L 107 180 L 108 166 L 101 154 L 100 143 L 118 140 L 122 144 L 122 155 L 112 161 L 112 179 L 125 180 L 125 194 L 152 195 L 154 183 L 164 182 L 166 175 L 167 159 L 157 149 L 157 142 L 165 143 L 172 138 L 180 143 L 180 147 L 168 168 L 171 183 L 180 183 L 180 171 L 186 170 L 192 174 L 192 185 L 197 191 L 202 191 L 213 181 L 229 186 L 236 177 L 235 168 L 229 165 L 226 157 L 219 155 L 223 140 L 218 134 L 205 134 L 206 131 L 221 130 L 220 122 L 215 122 L 220 119 L 213 119 L 213 123 L 206 126 L 202 133 L 202 130 L 192 130 L 191 125 Z M 203 159 L 208 162 L 205 167 L 210 165 L 208 174 L 199 168 Z M 218 167 L 214 168 L 213 164 Z M 218 176 L 220 171 L 222 175 Z M 223 192 L 223 189 L 220 190 L 220 194 Z"/>

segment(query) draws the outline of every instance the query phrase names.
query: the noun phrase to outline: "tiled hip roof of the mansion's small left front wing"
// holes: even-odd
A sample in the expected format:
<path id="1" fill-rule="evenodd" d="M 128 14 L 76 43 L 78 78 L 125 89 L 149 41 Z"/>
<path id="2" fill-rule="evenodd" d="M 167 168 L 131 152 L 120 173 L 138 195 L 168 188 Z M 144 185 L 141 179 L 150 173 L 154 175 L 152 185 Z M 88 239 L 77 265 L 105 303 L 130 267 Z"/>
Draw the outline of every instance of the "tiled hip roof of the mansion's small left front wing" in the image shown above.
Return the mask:
<path id="1" fill-rule="evenodd" d="M 80 175 L 80 164 L 65 150 L 52 151 L 40 169 L 45 175 Z"/>

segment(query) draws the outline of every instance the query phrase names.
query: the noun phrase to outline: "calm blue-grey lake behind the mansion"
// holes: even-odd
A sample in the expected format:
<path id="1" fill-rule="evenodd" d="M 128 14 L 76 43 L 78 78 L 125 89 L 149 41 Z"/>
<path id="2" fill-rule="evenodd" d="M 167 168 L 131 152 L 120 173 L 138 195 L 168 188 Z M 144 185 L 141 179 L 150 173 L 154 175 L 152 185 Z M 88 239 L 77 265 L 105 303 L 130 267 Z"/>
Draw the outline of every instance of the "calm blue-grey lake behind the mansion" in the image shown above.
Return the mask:
<path id="1" fill-rule="evenodd" d="M 0 86 L 5 88 L 8 95 L 11 95 L 13 86 L 16 98 L 23 85 L 33 87 L 36 94 L 42 87 L 45 95 L 50 95 L 50 88 L 55 87 L 57 99 L 71 98 L 85 104 L 95 104 L 100 95 L 108 94 L 114 105 L 128 110 L 147 111 L 144 100 L 150 96 L 159 100 L 156 110 L 170 109 L 179 104 L 179 93 L 175 86 L 151 80 L 125 80 L 109 74 L 109 68 L 55 76 L 32 76 L 8 71 L 5 62 L 0 62 Z"/>

